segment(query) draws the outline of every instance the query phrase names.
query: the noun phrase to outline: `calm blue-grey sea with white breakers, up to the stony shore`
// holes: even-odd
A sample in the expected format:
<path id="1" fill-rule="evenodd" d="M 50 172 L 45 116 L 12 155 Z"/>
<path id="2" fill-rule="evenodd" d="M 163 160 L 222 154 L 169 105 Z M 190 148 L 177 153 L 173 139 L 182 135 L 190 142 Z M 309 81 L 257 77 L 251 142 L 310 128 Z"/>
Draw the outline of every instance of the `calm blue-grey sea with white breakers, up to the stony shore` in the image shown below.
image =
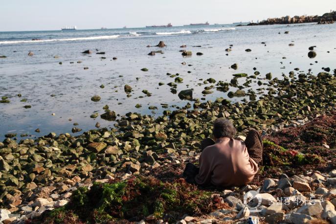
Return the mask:
<path id="1" fill-rule="evenodd" d="M 284 34 L 285 31 L 289 34 Z M 177 92 L 193 89 L 194 98 L 204 97 L 201 101 L 206 101 L 228 98 L 227 92 L 216 89 L 203 96 L 204 87 L 214 85 L 203 84 L 208 78 L 229 82 L 234 73 L 252 75 L 253 67 L 260 72 L 258 78 L 265 78 L 268 72 L 273 78 L 282 78 L 296 67 L 305 73 L 311 69 L 313 74 L 323 71 L 322 67 L 335 69 L 335 37 L 336 24 L 314 23 L 0 32 L 0 56 L 7 56 L 0 58 L 0 96 L 10 100 L 7 104 L 0 103 L 0 139 L 6 133 L 29 134 L 28 137 L 50 132 L 71 133 L 75 122 L 83 131 L 94 129 L 96 122 L 101 127 L 113 127 L 113 121 L 102 120 L 100 116 L 90 118 L 94 112 L 102 114 L 105 105 L 121 115 L 140 112 L 153 116 L 186 105 L 189 101 L 180 100 L 178 94 L 170 91 L 171 87 L 158 86 L 159 82 L 174 82 L 175 78 L 169 77 L 167 72 L 179 73 L 183 78 L 183 82 L 177 84 Z M 147 47 L 157 45 L 159 41 L 164 41 L 167 46 Z M 180 45 L 187 47 L 180 48 Z M 224 49 L 229 45 L 233 45 L 232 51 L 226 52 Z M 313 45 L 317 56 L 310 59 L 308 47 Z M 246 48 L 251 52 L 246 52 Z M 81 54 L 88 49 L 93 53 Z M 181 49 L 190 50 L 193 55 L 182 57 Z M 163 54 L 147 55 L 155 50 L 162 50 Z M 29 51 L 34 55 L 27 56 Z M 203 55 L 198 56 L 197 52 Z M 112 60 L 113 57 L 117 60 Z M 234 63 L 239 66 L 237 70 L 230 68 Z M 148 71 L 141 71 L 143 67 Z M 245 81 L 240 78 L 239 84 Z M 253 80 L 251 87 L 245 90 L 259 88 L 257 81 Z M 100 88 L 102 84 L 104 89 Z M 125 84 L 133 88 L 131 97 L 124 92 Z M 146 96 L 142 90 L 148 90 L 152 96 Z M 17 96 L 19 93 L 21 97 Z M 95 94 L 101 96 L 99 102 L 90 100 Z M 27 101 L 22 102 L 22 99 Z M 142 107 L 135 108 L 136 104 Z M 161 104 L 168 104 L 168 109 L 163 109 Z M 23 108 L 25 105 L 31 105 L 31 108 Z M 149 110 L 149 106 L 156 106 L 158 110 Z M 40 133 L 34 132 L 37 128 Z"/>

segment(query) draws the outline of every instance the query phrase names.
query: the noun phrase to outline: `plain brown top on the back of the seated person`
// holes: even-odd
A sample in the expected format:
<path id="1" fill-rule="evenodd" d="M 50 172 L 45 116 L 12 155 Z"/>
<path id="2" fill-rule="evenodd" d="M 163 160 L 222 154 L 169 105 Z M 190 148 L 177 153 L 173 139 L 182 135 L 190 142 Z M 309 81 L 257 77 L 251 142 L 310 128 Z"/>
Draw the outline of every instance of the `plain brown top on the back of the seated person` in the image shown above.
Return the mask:
<path id="1" fill-rule="evenodd" d="M 224 138 L 206 147 L 200 156 L 200 172 L 195 177 L 200 185 L 218 187 L 242 186 L 258 172 L 257 163 L 249 157 L 245 143 Z"/>

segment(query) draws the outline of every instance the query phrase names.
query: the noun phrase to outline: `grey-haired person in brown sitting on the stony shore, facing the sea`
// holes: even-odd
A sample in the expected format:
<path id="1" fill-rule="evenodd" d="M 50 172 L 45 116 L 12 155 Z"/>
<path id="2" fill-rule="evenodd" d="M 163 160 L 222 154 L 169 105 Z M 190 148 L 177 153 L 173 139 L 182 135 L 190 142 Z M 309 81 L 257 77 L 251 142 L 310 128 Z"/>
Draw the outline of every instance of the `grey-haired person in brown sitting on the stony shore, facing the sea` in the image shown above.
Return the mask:
<path id="1" fill-rule="evenodd" d="M 236 129 L 225 118 L 218 118 L 213 124 L 214 141 L 202 142 L 208 145 L 201 153 L 200 168 L 186 166 L 184 175 L 187 181 L 195 182 L 202 186 L 213 185 L 216 187 L 242 186 L 254 178 L 258 172 L 258 164 L 262 162 L 263 141 L 261 135 L 251 130 L 246 136 L 246 141 L 233 139 Z M 204 143 L 205 142 L 205 143 Z M 191 173 L 194 173 L 190 178 Z M 195 176 L 195 172 L 196 174 Z"/>

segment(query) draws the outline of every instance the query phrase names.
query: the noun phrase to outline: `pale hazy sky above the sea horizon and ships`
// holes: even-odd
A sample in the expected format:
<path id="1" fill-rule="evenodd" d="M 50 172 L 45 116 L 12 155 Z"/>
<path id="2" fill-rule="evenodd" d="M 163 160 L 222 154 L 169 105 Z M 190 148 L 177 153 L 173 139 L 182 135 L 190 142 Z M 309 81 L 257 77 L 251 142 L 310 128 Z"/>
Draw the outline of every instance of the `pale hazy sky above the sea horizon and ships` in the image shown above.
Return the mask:
<path id="1" fill-rule="evenodd" d="M 0 31 L 248 22 L 331 9 L 336 0 L 1 0 Z"/>

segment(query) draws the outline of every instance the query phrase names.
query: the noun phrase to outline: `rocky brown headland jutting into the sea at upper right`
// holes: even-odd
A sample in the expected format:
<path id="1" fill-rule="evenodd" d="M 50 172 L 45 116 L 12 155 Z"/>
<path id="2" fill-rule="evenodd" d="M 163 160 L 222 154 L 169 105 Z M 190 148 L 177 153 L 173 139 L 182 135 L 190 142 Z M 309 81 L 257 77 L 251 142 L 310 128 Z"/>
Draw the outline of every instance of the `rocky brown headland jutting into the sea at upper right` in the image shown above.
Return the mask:
<path id="1" fill-rule="evenodd" d="M 281 18 L 269 18 L 262 22 L 251 22 L 247 25 L 272 25 L 272 24 L 292 24 L 292 23 L 306 23 L 317 22 L 318 24 L 329 24 L 336 21 L 336 11 L 325 13 L 322 16 L 285 16 Z"/>

